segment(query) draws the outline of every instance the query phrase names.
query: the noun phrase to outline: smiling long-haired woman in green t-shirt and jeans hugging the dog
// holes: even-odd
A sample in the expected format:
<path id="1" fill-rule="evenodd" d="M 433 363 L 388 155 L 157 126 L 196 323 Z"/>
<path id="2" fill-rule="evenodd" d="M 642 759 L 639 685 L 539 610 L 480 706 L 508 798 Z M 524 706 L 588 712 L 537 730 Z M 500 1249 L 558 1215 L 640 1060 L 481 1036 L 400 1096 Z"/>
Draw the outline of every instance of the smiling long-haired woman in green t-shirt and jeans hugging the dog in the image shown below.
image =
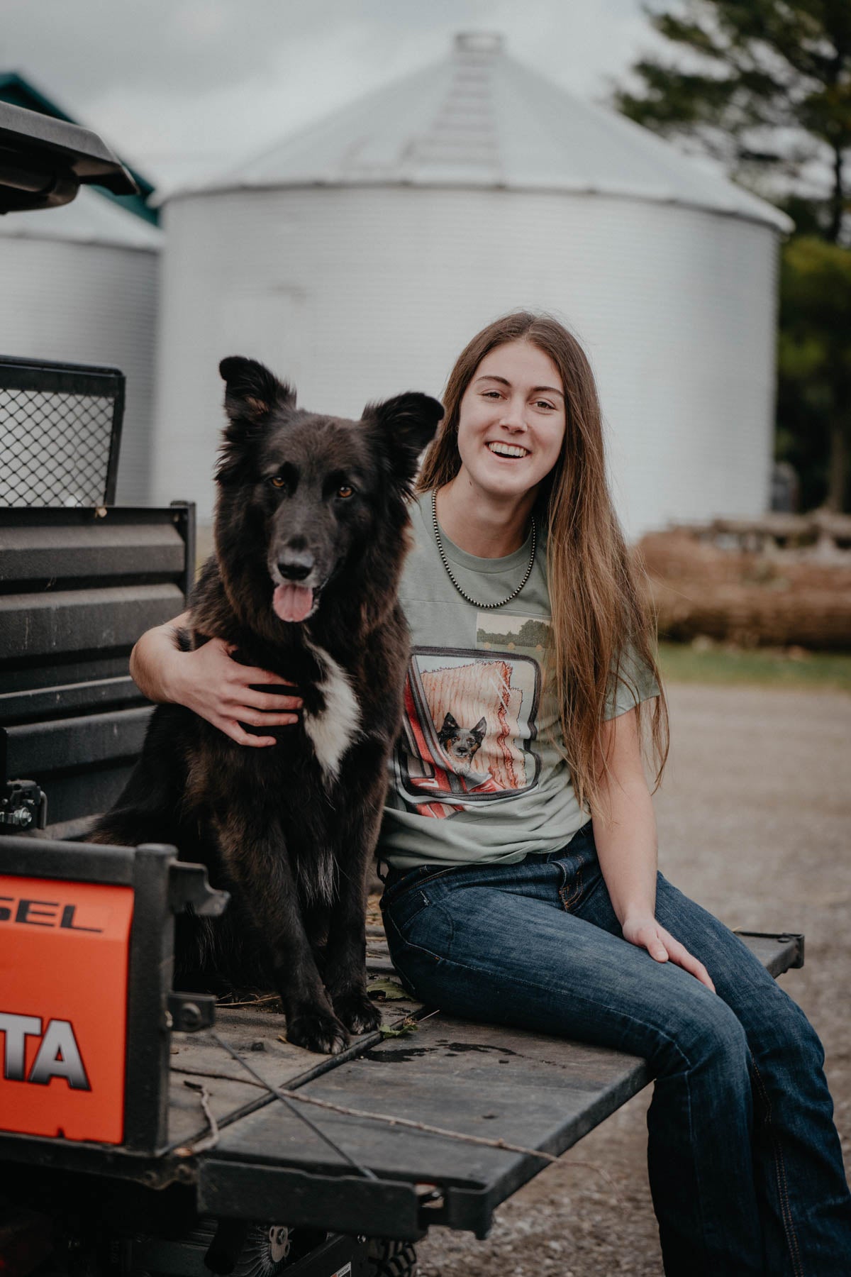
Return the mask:
<path id="1" fill-rule="evenodd" d="M 478 333 L 447 386 L 402 584 L 406 716 L 381 833 L 396 965 L 457 1015 L 644 1056 L 669 1274 L 847 1273 L 823 1051 L 741 941 L 656 870 L 642 719 L 666 714 L 606 489 L 593 377 L 555 321 Z M 168 627 L 133 672 L 235 739 L 296 720 L 274 676 Z"/>

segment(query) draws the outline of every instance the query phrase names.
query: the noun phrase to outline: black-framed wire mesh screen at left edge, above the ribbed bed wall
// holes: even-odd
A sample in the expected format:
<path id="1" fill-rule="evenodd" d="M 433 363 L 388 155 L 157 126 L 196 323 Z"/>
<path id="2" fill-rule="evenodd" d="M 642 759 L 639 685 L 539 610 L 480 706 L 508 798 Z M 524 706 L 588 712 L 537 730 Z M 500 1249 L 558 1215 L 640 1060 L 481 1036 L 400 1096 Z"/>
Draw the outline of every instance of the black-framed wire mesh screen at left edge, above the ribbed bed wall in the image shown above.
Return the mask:
<path id="1" fill-rule="evenodd" d="M 116 369 L 0 359 L 0 504 L 111 504 L 122 411 Z"/>

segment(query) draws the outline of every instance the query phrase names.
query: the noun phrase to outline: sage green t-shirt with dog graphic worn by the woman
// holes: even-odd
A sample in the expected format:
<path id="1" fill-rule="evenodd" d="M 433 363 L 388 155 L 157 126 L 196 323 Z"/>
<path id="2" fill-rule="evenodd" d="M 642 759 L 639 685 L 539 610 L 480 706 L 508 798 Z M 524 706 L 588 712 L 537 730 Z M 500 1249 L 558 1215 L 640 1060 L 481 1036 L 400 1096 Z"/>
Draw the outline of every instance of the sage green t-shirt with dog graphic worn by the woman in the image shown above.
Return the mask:
<path id="1" fill-rule="evenodd" d="M 440 561 L 431 497 L 412 508 L 413 549 L 399 596 L 411 627 L 403 728 L 390 761 L 379 856 L 394 868 L 519 861 L 564 847 L 589 813 L 579 807 L 545 688 L 550 624 L 546 548 L 510 603 L 482 610 L 455 590 Z M 441 540 L 454 577 L 480 603 L 517 589 L 531 536 L 514 554 L 484 559 Z M 649 670 L 623 668 L 606 718 L 658 695 Z"/>

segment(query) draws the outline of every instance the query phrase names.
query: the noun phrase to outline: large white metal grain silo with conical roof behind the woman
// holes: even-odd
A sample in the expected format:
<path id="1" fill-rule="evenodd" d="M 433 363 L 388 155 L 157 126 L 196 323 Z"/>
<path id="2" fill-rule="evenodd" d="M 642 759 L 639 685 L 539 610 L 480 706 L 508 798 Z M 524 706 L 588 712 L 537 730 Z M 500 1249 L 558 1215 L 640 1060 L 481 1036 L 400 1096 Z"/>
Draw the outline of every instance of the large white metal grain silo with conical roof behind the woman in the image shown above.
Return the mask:
<path id="1" fill-rule="evenodd" d="M 634 535 L 768 502 L 777 209 L 510 59 L 498 36 L 165 207 L 154 495 L 212 507 L 217 363 L 359 415 L 439 393 L 505 310 L 581 337 Z"/>

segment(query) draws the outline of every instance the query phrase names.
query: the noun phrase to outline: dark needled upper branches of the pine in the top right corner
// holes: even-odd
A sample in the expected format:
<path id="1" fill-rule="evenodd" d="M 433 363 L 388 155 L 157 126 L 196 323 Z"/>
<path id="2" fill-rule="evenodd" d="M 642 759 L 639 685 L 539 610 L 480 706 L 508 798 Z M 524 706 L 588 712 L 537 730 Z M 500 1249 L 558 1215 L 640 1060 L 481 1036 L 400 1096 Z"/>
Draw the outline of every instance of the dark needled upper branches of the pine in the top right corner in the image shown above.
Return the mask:
<path id="1" fill-rule="evenodd" d="M 851 181 L 848 0 L 685 0 L 647 13 L 685 65 L 640 60 L 640 88 L 618 89 L 618 109 L 690 139 L 776 202 L 803 202 L 838 243 Z"/>

